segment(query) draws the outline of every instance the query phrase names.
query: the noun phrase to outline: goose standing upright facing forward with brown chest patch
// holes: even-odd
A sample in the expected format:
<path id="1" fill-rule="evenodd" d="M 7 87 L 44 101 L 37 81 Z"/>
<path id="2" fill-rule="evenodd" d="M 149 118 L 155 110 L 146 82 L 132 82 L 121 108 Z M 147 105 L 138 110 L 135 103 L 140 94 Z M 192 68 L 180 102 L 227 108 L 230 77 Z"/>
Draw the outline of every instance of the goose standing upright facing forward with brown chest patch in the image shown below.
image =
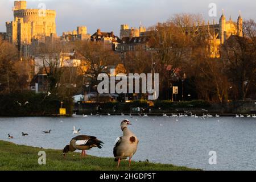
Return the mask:
<path id="1" fill-rule="evenodd" d="M 131 167 L 131 158 L 133 158 L 133 155 L 137 151 L 139 140 L 128 129 L 128 125 L 131 125 L 131 123 L 127 119 L 121 122 L 121 130 L 123 131 L 123 136 L 115 140 L 113 152 L 115 162 L 118 162 L 117 168 L 119 167 L 121 160 L 127 158 L 129 158 L 129 167 Z"/>

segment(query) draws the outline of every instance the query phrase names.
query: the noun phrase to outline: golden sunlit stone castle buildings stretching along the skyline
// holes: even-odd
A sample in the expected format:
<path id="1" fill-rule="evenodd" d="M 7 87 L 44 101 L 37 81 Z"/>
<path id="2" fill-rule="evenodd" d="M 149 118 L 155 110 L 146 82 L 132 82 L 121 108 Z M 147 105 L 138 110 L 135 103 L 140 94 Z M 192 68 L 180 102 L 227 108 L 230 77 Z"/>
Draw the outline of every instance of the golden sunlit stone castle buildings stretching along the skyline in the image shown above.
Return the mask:
<path id="1" fill-rule="evenodd" d="M 113 32 L 101 32 L 98 30 L 90 36 L 87 34 L 85 26 L 77 27 L 77 30 L 71 32 L 63 32 L 58 38 L 56 34 L 56 12 L 54 10 L 27 9 L 26 1 L 14 2 L 14 20 L 6 22 L 6 34 L 0 34 L 1 37 L 16 44 L 20 53 L 24 57 L 31 55 L 33 45 L 40 42 L 53 41 L 60 39 L 60 42 L 69 42 L 76 40 L 103 40 L 114 43 L 114 50 L 118 52 L 136 51 L 137 49 L 148 49 L 147 42 L 148 32 L 154 30 L 146 30 L 142 25 L 139 28 L 129 28 L 129 25 L 122 24 L 119 38 L 114 36 Z M 202 29 L 208 30 L 210 57 L 220 57 L 220 46 L 224 44 L 232 35 L 243 36 L 243 19 L 238 16 L 237 22 L 233 22 L 230 18 L 226 20 L 222 13 L 219 24 L 213 21 L 212 24 L 201 27 L 190 27 L 194 32 Z M 190 32 L 191 30 L 188 30 Z M 113 40 L 113 41 L 112 41 Z M 121 41 L 122 40 L 122 41 Z"/>

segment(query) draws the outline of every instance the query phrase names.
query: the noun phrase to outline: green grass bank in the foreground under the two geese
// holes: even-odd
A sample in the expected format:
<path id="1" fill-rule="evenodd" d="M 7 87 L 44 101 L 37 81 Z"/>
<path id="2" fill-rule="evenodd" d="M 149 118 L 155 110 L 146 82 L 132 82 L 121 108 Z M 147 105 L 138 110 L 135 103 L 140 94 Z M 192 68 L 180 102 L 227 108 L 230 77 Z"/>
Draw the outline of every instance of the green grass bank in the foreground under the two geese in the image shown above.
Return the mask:
<path id="1" fill-rule="evenodd" d="M 46 152 L 46 165 L 38 164 L 38 152 Z M 80 157 L 73 152 L 63 159 L 60 150 L 45 150 L 42 148 L 20 146 L 0 140 L 0 171 L 115 171 L 117 163 L 114 158 L 98 158 L 95 156 Z M 121 171 L 187 171 L 195 170 L 187 167 L 177 167 L 171 164 L 152 164 L 147 162 L 122 161 Z"/>

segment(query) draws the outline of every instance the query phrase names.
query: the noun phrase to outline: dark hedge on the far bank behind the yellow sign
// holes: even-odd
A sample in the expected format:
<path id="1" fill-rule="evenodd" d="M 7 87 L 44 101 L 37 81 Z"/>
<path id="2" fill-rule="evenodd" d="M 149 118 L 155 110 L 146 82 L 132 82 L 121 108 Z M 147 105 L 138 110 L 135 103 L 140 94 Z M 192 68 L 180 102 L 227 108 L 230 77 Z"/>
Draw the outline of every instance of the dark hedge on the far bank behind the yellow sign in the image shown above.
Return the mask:
<path id="1" fill-rule="evenodd" d="M 59 114 L 60 102 L 57 96 L 47 96 L 45 93 L 23 92 L 0 94 L 1 116 L 40 116 Z M 26 104 L 27 102 L 27 104 Z M 64 100 L 63 107 L 67 114 L 72 114 L 72 100 Z"/>

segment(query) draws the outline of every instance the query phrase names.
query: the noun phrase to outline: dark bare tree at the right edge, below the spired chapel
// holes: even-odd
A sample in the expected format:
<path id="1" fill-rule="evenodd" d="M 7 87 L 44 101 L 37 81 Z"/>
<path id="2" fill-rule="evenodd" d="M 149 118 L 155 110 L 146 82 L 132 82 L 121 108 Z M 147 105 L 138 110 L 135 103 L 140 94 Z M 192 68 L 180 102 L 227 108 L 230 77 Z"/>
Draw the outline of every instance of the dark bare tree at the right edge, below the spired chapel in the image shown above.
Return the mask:
<path id="1" fill-rule="evenodd" d="M 243 24 L 243 37 L 231 36 L 221 49 L 238 100 L 245 100 L 250 87 L 255 90 L 256 75 L 256 23 L 249 20 Z"/>

